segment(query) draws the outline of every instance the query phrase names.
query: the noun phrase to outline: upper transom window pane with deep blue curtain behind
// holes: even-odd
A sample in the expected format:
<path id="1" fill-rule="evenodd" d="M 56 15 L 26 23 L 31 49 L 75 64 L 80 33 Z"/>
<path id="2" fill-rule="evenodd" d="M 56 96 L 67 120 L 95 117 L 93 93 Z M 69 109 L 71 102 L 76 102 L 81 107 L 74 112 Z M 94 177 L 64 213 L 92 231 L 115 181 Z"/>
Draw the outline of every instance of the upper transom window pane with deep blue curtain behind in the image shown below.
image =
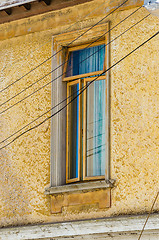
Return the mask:
<path id="1" fill-rule="evenodd" d="M 90 47 L 70 54 L 67 76 L 100 71 L 103 69 L 105 45 Z"/>

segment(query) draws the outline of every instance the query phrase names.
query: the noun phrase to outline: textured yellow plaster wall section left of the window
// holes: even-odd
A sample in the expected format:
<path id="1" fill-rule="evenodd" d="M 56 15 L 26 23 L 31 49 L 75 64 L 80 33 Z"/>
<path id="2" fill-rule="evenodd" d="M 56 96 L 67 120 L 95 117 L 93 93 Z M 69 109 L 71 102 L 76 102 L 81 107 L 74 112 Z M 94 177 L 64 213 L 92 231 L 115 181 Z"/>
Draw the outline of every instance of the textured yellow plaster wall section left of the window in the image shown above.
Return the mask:
<path id="1" fill-rule="evenodd" d="M 2 88 L 50 56 L 51 42 L 41 47 L 40 50 L 37 50 L 34 54 L 27 56 L 19 63 L 11 65 L 30 51 L 38 48 L 40 44 L 48 41 L 49 38 L 51 37 L 48 33 L 38 33 L 1 42 L 1 61 L 3 66 L 1 70 Z M 4 69 L 5 67 L 6 69 Z M 40 79 L 48 73 L 50 69 L 51 61 L 48 61 L 45 65 L 5 91 L 1 101 L 3 102 L 8 99 L 8 97 L 14 96 L 26 86 Z M 25 93 L 10 101 L 10 104 L 6 104 L 4 109 L 49 81 L 50 77 L 48 76 L 40 81 L 39 84 L 34 85 Z M 5 139 L 24 125 L 30 123 L 42 113 L 49 110 L 50 106 L 50 85 L 48 85 L 48 87 L 40 90 L 1 116 L 1 139 Z M 49 114 L 46 114 L 34 124 L 39 123 L 47 116 L 49 116 Z M 31 126 L 34 126 L 34 124 Z M 29 129 L 29 127 L 26 129 Z M 32 218 L 35 220 L 36 215 L 49 214 L 49 199 L 43 194 L 44 187 L 49 182 L 49 161 L 49 121 L 22 136 L 12 145 L 1 151 L 0 218 L 2 225 L 31 222 Z"/>

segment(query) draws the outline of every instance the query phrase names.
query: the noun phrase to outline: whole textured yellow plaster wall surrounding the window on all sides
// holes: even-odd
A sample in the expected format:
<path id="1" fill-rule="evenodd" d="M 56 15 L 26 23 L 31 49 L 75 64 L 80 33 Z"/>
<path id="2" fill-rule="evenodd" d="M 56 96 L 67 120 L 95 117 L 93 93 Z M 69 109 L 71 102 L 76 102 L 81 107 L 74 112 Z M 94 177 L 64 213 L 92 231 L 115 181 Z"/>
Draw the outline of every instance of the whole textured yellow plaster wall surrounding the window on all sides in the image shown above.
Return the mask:
<path id="1" fill-rule="evenodd" d="M 1 25 L 1 36 L 6 36 L 3 37 L 6 39 L 0 42 L 1 88 L 8 86 L 50 57 L 52 36 L 62 32 L 69 24 L 86 15 L 95 6 L 95 2 L 87 3 L 84 6 L 79 5 L 44 14 L 41 17 Z M 103 9 L 103 7 L 99 8 L 98 12 L 72 29 L 91 26 L 105 14 Z M 134 10 L 133 8 L 118 11 L 106 20 L 109 20 L 110 27 L 113 27 Z M 145 9 L 139 10 L 111 31 L 111 39 L 146 14 Z M 158 19 L 150 16 L 112 42 L 111 64 L 157 32 L 158 24 Z M 48 30 L 41 31 L 45 28 Z M 15 29 L 18 32 L 17 37 L 13 37 Z M 32 29 L 36 30 L 35 33 Z M 50 121 L 47 121 L 0 152 L 1 226 L 137 214 L 150 210 L 159 184 L 158 51 L 159 38 L 156 37 L 111 70 L 111 177 L 116 180 L 116 187 L 112 190 L 112 207 L 108 210 L 99 210 L 97 205 L 92 208 L 70 207 L 64 208 L 62 214 L 50 214 L 50 198 L 44 195 L 44 189 L 49 186 L 50 181 Z M 14 96 L 49 71 L 51 71 L 51 60 L 4 91 L 1 102 Z M 48 75 L 1 109 L 11 106 L 50 80 L 51 77 Z M 1 115 L 1 140 L 49 110 L 50 107 L 51 86 L 49 84 Z M 36 124 L 49 114 L 43 116 Z M 154 211 L 157 210 L 159 210 L 159 200 L 154 207 Z"/>

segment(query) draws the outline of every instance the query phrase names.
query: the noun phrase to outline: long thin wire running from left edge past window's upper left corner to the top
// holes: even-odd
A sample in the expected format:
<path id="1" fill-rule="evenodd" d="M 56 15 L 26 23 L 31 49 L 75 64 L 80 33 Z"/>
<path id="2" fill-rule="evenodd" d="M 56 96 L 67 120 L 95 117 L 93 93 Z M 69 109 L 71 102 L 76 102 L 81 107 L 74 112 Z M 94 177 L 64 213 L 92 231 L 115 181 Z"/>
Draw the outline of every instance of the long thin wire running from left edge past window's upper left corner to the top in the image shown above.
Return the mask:
<path id="1" fill-rule="evenodd" d="M 113 11 L 111 11 L 110 13 L 108 13 L 106 16 L 104 16 L 101 20 L 99 20 L 97 23 L 95 23 L 93 26 L 91 26 L 90 28 L 88 28 L 85 32 L 83 32 L 81 35 L 79 35 L 77 38 L 75 38 L 74 40 L 72 40 L 69 44 L 66 45 L 66 47 L 69 47 L 72 43 L 74 43 L 76 40 L 78 40 L 80 37 L 82 37 L 84 34 L 86 34 L 88 31 L 90 31 L 92 28 L 94 28 L 95 26 L 97 26 L 99 23 L 101 23 L 103 20 L 105 20 L 109 15 L 111 15 L 113 12 L 115 12 L 118 8 L 120 8 L 121 6 L 123 6 L 128 0 L 124 1 L 122 4 L 120 4 L 117 8 L 115 8 Z M 13 84 L 15 84 L 16 82 L 20 81 L 22 78 L 26 77 L 28 74 L 30 74 L 31 72 L 33 72 L 34 70 L 36 70 L 37 68 L 39 68 L 41 65 L 43 65 L 44 63 L 46 63 L 48 60 L 50 60 L 51 58 L 53 58 L 54 56 L 56 56 L 58 53 L 60 53 L 62 51 L 59 50 L 57 51 L 55 54 L 53 54 L 52 56 L 50 56 L 49 58 L 47 58 L 46 60 L 44 60 L 42 63 L 40 63 L 39 65 L 37 65 L 35 68 L 33 68 L 32 70 L 30 70 L 29 72 L 27 72 L 26 74 L 24 74 L 22 77 L 18 78 L 17 80 L 15 80 L 13 83 L 9 84 L 7 87 L 3 88 L 2 90 L 0 90 L 0 93 L 3 92 L 4 90 L 8 89 L 10 86 L 12 86 Z"/>

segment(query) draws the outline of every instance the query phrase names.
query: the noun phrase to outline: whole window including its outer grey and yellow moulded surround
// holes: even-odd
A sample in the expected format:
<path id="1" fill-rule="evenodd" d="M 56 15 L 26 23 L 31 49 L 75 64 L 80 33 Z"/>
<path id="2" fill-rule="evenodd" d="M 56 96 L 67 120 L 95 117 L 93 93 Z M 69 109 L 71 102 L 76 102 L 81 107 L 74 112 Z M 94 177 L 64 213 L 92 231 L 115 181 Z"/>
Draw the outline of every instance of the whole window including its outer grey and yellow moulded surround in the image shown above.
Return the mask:
<path id="1" fill-rule="evenodd" d="M 52 114 L 65 106 L 65 98 L 69 102 L 81 88 L 102 74 L 103 68 L 105 70 L 109 67 L 109 40 L 108 34 L 105 34 L 108 23 L 83 34 L 86 30 L 87 28 L 53 38 L 53 54 L 59 53 L 52 60 L 52 68 L 56 69 L 52 73 L 52 79 L 58 79 L 52 81 L 52 107 L 60 102 L 62 104 Z M 67 48 L 81 34 L 82 37 Z M 103 36 L 100 41 L 87 48 L 100 36 Z M 63 62 L 67 59 L 69 62 L 63 67 Z M 67 74 L 63 76 L 65 71 Z M 50 187 L 75 182 L 80 182 L 82 186 L 81 182 L 88 180 L 110 179 L 108 106 L 109 73 L 106 73 L 51 119 Z M 71 187 L 71 184 L 67 186 Z"/>

